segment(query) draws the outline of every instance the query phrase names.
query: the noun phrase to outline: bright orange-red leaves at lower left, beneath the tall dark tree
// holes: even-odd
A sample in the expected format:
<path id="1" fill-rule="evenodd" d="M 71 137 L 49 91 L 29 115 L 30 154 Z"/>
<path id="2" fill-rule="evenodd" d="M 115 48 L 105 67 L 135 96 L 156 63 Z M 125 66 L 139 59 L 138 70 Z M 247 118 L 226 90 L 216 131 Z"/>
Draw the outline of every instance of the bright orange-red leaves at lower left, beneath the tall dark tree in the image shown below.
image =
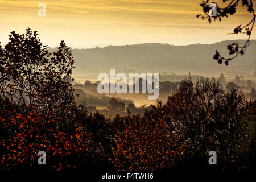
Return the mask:
<path id="1" fill-rule="evenodd" d="M 88 151 L 90 133 L 79 125 L 67 133 L 58 128 L 58 121 L 51 114 L 41 115 L 34 109 L 20 114 L 14 107 L 6 105 L 0 111 L 1 131 L 5 134 L 0 141 L 4 152 L 1 155 L 2 169 L 34 167 L 41 150 L 46 151 L 52 169 L 75 168 L 79 161 L 69 163 L 66 159 Z"/>

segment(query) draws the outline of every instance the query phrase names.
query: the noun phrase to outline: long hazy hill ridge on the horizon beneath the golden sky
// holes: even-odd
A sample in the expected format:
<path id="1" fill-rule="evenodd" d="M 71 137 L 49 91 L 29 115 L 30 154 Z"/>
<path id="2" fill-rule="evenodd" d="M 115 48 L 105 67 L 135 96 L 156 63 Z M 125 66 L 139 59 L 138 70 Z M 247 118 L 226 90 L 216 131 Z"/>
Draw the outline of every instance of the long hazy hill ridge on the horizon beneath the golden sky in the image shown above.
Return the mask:
<path id="1" fill-rule="evenodd" d="M 75 58 L 75 75 L 109 73 L 110 68 L 124 67 L 141 72 L 188 72 L 209 74 L 232 70 L 254 72 L 256 68 L 256 40 L 251 40 L 245 55 L 238 56 L 228 67 L 213 60 L 215 50 L 226 56 L 228 44 L 245 40 L 226 40 L 214 44 L 191 44 L 173 46 L 170 44 L 135 44 L 107 46 L 104 48 L 72 49 Z M 50 51 L 53 51 L 50 50 Z"/>

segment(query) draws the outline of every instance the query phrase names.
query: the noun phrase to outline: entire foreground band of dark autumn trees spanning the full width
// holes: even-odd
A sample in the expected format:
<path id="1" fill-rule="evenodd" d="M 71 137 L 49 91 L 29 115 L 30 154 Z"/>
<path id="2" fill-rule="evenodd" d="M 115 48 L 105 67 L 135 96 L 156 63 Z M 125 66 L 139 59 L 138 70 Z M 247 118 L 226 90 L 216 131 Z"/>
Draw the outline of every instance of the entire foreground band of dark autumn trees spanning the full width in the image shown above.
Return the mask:
<path id="1" fill-rule="evenodd" d="M 63 41 L 49 53 L 37 32 L 11 32 L 0 45 L 0 169 L 46 168 L 157 171 L 255 166 L 255 105 L 218 82 L 183 81 L 165 104 L 143 115 L 114 119 L 77 105 L 71 84 L 74 60 Z M 115 98 L 110 110 L 125 110 Z M 47 164 L 38 164 L 45 151 Z"/>

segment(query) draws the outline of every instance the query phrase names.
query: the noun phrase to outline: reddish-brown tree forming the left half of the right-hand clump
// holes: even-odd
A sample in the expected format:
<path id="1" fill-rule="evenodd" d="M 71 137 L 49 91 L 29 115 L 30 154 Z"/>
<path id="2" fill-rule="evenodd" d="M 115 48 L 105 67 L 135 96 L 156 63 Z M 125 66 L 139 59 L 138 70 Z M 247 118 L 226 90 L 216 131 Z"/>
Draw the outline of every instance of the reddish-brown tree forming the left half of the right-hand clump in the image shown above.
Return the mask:
<path id="1" fill-rule="evenodd" d="M 224 91 L 218 82 L 201 80 L 195 86 L 191 81 L 183 81 L 179 90 L 168 98 L 164 113 L 169 125 L 175 128 L 181 140 L 186 141 L 187 161 L 204 165 L 207 152 L 214 148 L 214 110 L 223 100 Z M 215 116 L 216 117 L 216 116 Z"/>

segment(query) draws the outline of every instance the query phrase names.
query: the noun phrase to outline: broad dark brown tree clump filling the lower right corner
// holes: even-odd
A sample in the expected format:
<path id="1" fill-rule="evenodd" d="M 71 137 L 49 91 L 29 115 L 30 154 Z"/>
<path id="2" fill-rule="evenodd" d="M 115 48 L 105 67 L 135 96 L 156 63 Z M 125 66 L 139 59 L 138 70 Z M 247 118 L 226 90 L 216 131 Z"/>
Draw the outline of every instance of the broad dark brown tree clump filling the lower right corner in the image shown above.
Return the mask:
<path id="1" fill-rule="evenodd" d="M 162 113 L 180 142 L 187 143 L 187 166 L 210 167 L 208 153 L 213 150 L 217 152 L 217 168 L 242 170 L 251 168 L 250 160 L 255 159 L 255 143 L 250 142 L 255 137 L 253 105 L 255 101 L 247 102 L 236 89 L 224 92 L 218 82 L 201 80 L 194 85 L 183 81 Z M 247 148 L 246 155 L 242 148 Z"/>

